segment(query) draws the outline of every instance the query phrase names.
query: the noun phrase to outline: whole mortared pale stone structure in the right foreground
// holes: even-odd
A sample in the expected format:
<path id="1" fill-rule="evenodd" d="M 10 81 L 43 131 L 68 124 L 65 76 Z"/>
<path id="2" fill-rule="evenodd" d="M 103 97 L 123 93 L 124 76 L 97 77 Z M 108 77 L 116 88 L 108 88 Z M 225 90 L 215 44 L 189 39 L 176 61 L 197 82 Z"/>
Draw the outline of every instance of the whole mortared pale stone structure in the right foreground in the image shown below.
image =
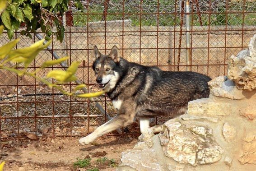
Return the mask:
<path id="1" fill-rule="evenodd" d="M 228 75 L 209 82 L 209 98 L 188 103 L 185 115 L 150 129 L 121 166 L 143 171 L 256 170 L 256 36 L 231 56 Z M 129 170 L 129 169 L 128 169 Z"/>

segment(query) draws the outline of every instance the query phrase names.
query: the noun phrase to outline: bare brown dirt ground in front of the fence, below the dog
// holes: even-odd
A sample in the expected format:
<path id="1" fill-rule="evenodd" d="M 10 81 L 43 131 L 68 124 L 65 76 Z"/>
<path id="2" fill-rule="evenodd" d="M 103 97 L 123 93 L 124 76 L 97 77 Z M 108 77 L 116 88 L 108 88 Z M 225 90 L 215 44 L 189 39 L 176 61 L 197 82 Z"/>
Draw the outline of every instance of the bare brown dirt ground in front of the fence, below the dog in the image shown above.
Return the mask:
<path id="1" fill-rule="evenodd" d="M 120 163 L 121 153 L 133 148 L 138 136 L 108 134 L 85 146 L 78 143 L 80 137 L 5 139 L 0 141 L 0 162 L 6 162 L 6 171 L 112 171 Z M 99 162 L 102 157 L 107 157 L 107 162 Z M 78 158 L 91 158 L 91 164 L 75 168 Z"/>

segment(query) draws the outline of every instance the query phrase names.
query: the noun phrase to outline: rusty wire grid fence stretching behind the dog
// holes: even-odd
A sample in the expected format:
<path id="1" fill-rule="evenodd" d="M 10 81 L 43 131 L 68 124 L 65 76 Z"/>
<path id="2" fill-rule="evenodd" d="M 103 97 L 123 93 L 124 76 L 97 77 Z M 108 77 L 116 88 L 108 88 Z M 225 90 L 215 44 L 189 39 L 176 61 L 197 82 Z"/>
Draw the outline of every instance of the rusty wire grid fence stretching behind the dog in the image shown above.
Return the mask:
<path id="1" fill-rule="evenodd" d="M 247 48 L 256 34 L 256 2 L 190 0 L 188 5 L 189 13 L 183 0 L 71 1 L 70 11 L 63 17 L 64 41 L 52 36 L 51 48 L 60 57 L 70 56 L 68 64 L 80 61 L 77 77 L 88 84 L 89 91 L 98 90 L 92 69 L 94 45 L 105 53 L 116 45 L 126 60 L 163 70 L 184 71 L 188 67 L 211 78 L 225 75 L 230 55 Z M 185 27 L 186 22 L 190 27 Z M 35 35 L 32 39 L 21 36 L 22 30 L 15 32 L 15 38 L 21 39 L 17 48 L 38 40 Z M 3 33 L 0 45 L 8 41 Z M 33 71 L 51 59 L 52 51 L 44 50 L 29 69 Z M 56 68 L 61 66 L 40 71 L 37 76 L 45 77 Z M 76 84 L 62 86 L 71 91 Z M 95 102 L 98 105 L 64 96 L 33 78 L 0 70 L 0 139 L 88 134 L 107 120 L 106 114 L 116 113 L 107 97 L 98 97 Z M 134 132 L 137 126 L 135 123 L 125 131 Z"/>

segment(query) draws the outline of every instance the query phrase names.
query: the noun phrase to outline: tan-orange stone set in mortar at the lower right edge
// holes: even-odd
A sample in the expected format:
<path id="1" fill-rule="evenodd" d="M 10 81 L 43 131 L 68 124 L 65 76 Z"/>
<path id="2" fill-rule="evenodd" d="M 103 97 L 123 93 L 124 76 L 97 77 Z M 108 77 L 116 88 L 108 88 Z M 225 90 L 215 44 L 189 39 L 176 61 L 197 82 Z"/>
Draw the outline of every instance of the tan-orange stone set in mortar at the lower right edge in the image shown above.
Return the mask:
<path id="1" fill-rule="evenodd" d="M 241 164 L 256 164 L 256 132 L 247 134 L 243 139 L 242 156 L 238 159 Z"/>

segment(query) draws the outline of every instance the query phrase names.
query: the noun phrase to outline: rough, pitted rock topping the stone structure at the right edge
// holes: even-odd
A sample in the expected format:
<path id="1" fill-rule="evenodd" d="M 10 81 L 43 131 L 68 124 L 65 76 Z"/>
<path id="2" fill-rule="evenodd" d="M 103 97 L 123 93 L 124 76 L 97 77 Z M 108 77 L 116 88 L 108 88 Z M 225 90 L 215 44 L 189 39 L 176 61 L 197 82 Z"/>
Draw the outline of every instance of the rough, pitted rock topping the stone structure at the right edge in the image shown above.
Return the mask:
<path id="1" fill-rule="evenodd" d="M 230 57 L 228 79 L 233 80 L 239 90 L 256 89 L 256 35 L 251 38 L 247 50 Z"/>

